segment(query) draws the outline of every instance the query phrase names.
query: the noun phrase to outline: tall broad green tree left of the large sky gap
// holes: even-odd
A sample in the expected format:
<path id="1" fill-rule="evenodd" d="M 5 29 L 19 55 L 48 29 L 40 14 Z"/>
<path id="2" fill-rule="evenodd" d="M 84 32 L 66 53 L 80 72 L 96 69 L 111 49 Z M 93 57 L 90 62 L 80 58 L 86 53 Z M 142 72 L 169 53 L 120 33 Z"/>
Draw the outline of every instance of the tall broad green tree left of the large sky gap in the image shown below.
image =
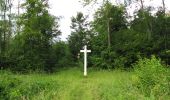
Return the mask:
<path id="1" fill-rule="evenodd" d="M 50 70 L 53 38 L 60 34 L 58 20 L 49 14 L 47 0 L 27 0 L 19 19 L 21 33 L 14 37 L 11 58 L 14 70 Z"/>

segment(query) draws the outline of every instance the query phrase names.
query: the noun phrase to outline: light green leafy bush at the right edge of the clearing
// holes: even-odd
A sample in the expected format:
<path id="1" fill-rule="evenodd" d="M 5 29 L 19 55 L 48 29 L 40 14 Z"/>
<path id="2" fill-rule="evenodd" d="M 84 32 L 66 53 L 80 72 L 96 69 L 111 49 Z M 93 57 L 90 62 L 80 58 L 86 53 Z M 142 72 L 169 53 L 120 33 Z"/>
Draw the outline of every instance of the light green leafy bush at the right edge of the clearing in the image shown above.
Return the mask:
<path id="1" fill-rule="evenodd" d="M 168 70 L 155 56 L 140 59 L 134 69 L 133 85 L 146 97 L 165 99 L 170 95 Z"/>

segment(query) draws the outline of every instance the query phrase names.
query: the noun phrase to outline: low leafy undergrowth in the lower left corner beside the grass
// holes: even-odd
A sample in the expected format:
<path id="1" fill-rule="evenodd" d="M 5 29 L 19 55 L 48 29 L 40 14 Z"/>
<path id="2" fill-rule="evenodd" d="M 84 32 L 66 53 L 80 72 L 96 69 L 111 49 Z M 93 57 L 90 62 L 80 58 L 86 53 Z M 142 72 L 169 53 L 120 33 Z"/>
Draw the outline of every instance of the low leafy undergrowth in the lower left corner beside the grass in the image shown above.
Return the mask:
<path id="1" fill-rule="evenodd" d="M 54 88 L 50 82 L 24 82 L 9 72 L 0 72 L 0 75 L 0 100 L 30 100 Z"/>

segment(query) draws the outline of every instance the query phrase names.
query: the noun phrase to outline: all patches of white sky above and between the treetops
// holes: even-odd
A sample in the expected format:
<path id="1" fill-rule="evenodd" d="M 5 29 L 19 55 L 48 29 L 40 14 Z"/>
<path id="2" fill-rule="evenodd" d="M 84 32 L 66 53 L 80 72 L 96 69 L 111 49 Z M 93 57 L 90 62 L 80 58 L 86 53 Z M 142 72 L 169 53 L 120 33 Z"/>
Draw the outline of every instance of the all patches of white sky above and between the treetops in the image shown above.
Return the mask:
<path id="1" fill-rule="evenodd" d="M 14 0 L 15 7 L 17 7 L 17 1 L 18 0 Z M 92 20 L 93 19 L 92 15 L 94 14 L 95 10 L 100 6 L 100 2 L 99 2 L 99 4 L 97 5 L 83 7 L 82 3 L 79 1 L 81 0 L 49 0 L 50 13 L 54 16 L 62 17 L 60 19 L 59 24 L 60 24 L 60 30 L 62 32 L 60 38 L 63 41 L 66 41 L 67 40 L 66 38 L 71 33 L 70 25 L 71 25 L 72 16 L 76 16 L 77 12 L 83 12 L 84 15 L 89 16 L 89 20 Z M 124 0 L 111 0 L 111 1 L 114 4 L 116 4 L 116 1 L 118 2 Z M 145 6 L 149 6 L 149 5 L 152 5 L 153 7 L 162 6 L 162 0 L 144 0 L 144 1 L 145 1 L 144 2 Z M 166 8 L 170 10 L 170 0 L 165 0 L 165 5 Z M 131 5 L 128 8 L 129 14 L 133 14 L 133 10 L 135 8 L 136 8 L 135 5 Z"/>

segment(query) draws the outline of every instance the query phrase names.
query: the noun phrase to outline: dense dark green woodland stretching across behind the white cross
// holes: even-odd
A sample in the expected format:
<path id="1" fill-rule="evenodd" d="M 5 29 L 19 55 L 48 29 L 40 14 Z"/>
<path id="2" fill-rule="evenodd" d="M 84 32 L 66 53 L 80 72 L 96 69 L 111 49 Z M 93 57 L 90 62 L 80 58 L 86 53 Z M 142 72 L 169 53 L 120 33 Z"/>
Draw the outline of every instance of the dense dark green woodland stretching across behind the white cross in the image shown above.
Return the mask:
<path id="1" fill-rule="evenodd" d="M 78 54 L 85 44 L 92 50 L 89 67 L 127 69 L 151 55 L 169 65 L 170 13 L 164 0 L 156 13 L 140 1 L 113 5 L 104 0 L 93 21 L 78 12 L 71 18 L 71 35 L 63 42 L 58 38 L 60 18 L 49 13 L 48 0 L 26 0 L 19 6 L 23 13 L 11 12 L 12 0 L 0 0 L 0 67 L 17 72 L 55 72 L 80 64 Z M 85 0 L 83 4 L 95 2 Z M 141 6 L 130 16 L 126 7 L 134 2 Z"/>

